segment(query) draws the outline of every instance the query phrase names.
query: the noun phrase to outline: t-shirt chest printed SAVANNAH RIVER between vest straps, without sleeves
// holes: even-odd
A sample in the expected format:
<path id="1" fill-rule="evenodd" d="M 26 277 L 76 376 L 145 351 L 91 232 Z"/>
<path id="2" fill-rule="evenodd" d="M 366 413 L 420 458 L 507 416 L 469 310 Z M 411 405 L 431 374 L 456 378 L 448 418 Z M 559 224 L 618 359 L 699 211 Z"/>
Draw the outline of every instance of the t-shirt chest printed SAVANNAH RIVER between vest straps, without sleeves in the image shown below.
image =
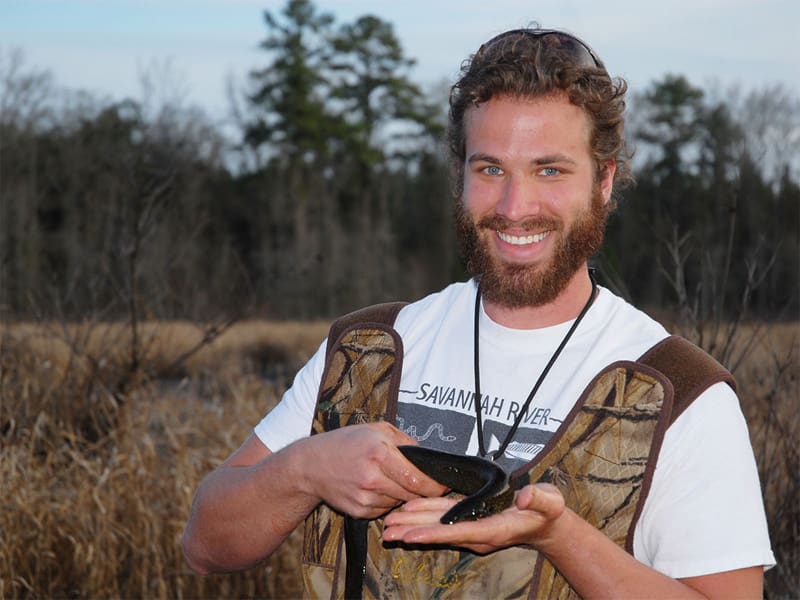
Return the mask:
<path id="1" fill-rule="evenodd" d="M 469 455 L 478 454 L 479 448 L 474 405 L 476 293 L 472 282 L 450 286 L 404 309 L 396 322 L 405 350 L 397 426 L 422 445 Z M 506 439 L 572 325 L 568 321 L 542 329 L 510 329 L 492 321 L 481 307 L 480 404 L 488 452 Z M 601 288 L 497 462 L 510 472 L 533 460 L 602 368 L 615 360 L 636 359 L 666 336 L 661 325 Z"/>

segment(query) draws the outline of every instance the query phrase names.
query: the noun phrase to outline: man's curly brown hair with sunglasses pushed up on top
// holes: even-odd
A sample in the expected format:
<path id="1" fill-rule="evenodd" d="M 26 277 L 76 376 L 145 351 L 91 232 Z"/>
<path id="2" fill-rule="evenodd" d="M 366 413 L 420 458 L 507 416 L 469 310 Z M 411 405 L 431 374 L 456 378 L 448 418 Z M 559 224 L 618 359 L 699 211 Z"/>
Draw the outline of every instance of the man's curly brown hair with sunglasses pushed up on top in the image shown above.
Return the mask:
<path id="1" fill-rule="evenodd" d="M 589 46 L 568 33 L 529 28 L 492 38 L 465 61 L 461 78 L 450 90 L 448 143 L 455 195 L 463 192 L 466 111 L 501 95 L 531 98 L 566 93 L 592 122 L 590 145 L 597 175 L 615 160 L 615 188 L 631 183 L 623 131 L 627 88 L 624 79 L 608 75 Z"/>

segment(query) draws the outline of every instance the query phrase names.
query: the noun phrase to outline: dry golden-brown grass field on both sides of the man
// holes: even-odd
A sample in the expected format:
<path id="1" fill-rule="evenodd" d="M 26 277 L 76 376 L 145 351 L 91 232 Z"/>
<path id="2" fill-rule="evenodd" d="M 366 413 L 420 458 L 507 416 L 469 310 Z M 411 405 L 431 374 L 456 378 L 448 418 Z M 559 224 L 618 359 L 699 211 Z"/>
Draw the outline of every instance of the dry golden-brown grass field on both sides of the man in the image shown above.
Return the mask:
<path id="1" fill-rule="evenodd" d="M 209 577 L 189 571 L 179 539 L 199 480 L 326 330 L 249 322 L 206 337 L 193 323 L 161 323 L 132 338 L 119 324 L 1 328 L 0 598 L 299 596 L 296 536 L 258 568 Z M 800 589 L 799 337 L 796 324 L 751 334 L 736 372 L 780 561 L 767 574 L 771 599 Z"/>

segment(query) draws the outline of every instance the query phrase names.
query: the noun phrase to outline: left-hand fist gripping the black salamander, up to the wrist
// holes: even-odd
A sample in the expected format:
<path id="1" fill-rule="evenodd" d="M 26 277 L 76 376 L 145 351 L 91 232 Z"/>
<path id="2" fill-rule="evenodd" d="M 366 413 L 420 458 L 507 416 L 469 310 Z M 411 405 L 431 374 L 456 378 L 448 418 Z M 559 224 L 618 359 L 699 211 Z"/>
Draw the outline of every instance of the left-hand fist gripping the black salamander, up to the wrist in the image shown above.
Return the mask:
<path id="1" fill-rule="evenodd" d="M 335 509 L 372 519 L 402 502 L 440 496 L 446 488 L 397 449 L 416 444 L 388 423 L 342 427 L 302 442 L 306 491 Z"/>

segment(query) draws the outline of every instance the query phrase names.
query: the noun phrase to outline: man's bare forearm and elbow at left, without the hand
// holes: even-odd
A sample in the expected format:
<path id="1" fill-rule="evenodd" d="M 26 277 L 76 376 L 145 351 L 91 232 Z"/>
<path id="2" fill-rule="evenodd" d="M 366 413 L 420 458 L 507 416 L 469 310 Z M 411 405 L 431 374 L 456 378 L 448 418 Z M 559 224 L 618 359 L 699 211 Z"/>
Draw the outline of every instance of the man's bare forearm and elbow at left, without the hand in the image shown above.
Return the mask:
<path id="1" fill-rule="evenodd" d="M 272 554 L 319 503 L 297 485 L 290 446 L 248 466 L 222 466 L 200 484 L 182 545 L 199 573 L 244 569 Z"/>

